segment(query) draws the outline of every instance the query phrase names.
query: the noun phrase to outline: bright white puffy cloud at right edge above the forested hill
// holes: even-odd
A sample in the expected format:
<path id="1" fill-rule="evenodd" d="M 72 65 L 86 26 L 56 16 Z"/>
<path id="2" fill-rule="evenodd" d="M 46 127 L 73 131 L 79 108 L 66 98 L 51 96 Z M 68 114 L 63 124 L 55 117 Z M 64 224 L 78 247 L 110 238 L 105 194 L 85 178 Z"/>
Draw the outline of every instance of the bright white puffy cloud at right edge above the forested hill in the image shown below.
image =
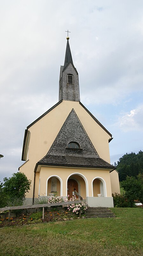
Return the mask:
<path id="1" fill-rule="evenodd" d="M 129 131 L 142 131 L 143 127 L 143 105 L 140 105 L 136 109 L 132 109 L 130 113 L 119 117 L 119 127 L 124 132 Z"/>

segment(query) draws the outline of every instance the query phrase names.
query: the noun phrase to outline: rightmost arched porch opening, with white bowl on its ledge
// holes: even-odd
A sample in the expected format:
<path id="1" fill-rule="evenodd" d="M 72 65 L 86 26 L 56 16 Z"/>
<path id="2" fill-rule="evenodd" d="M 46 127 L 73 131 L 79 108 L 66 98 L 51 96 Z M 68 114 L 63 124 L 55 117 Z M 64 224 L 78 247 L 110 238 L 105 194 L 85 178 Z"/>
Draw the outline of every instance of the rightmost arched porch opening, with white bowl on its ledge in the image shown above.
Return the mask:
<path id="1" fill-rule="evenodd" d="M 106 183 L 105 181 L 97 177 L 92 181 L 93 197 L 98 197 L 98 194 L 102 194 L 102 197 L 106 197 Z"/>

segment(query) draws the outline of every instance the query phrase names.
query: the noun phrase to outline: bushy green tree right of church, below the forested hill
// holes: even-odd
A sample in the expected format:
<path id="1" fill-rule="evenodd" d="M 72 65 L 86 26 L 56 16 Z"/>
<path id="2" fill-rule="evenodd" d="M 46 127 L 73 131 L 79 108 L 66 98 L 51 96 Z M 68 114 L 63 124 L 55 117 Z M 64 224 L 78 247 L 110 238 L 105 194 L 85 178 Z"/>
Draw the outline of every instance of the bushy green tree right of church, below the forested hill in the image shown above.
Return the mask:
<path id="1" fill-rule="evenodd" d="M 128 206 L 134 207 L 134 200 L 142 198 L 142 181 L 140 177 L 126 177 L 126 180 L 120 182 L 121 187 L 125 190 L 124 195 L 128 200 Z"/>

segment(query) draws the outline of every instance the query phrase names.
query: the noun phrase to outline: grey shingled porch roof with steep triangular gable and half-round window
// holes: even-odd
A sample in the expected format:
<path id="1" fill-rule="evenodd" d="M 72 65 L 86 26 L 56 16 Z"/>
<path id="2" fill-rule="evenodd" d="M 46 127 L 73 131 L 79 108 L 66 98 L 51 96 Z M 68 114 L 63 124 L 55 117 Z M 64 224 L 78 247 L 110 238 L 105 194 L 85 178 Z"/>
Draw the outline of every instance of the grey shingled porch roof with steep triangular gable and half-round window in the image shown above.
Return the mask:
<path id="1" fill-rule="evenodd" d="M 71 141 L 78 142 L 80 149 L 67 148 L 68 143 Z M 86 168 L 114 168 L 111 164 L 99 157 L 74 109 L 71 110 L 65 120 L 48 153 L 37 164 Z"/>

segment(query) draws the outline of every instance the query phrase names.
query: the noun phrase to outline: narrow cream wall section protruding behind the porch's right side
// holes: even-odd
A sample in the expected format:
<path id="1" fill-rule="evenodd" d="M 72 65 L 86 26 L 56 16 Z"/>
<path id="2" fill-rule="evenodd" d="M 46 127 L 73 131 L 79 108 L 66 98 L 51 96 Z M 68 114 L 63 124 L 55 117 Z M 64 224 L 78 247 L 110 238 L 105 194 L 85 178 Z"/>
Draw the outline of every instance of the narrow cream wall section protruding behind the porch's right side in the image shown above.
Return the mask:
<path id="1" fill-rule="evenodd" d="M 112 171 L 110 173 L 110 179 L 111 179 L 111 190 L 112 194 L 118 193 L 120 194 L 120 185 L 119 185 L 119 175 L 117 171 Z"/>

